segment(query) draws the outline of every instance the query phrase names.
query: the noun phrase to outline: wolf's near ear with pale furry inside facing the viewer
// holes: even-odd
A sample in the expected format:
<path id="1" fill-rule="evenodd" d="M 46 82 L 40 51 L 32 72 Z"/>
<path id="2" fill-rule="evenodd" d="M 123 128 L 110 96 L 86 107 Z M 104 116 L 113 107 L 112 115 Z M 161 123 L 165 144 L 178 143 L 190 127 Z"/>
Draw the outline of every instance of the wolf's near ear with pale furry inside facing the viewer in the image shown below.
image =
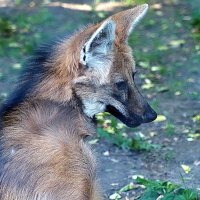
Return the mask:
<path id="1" fill-rule="evenodd" d="M 111 19 L 104 21 L 83 45 L 80 63 L 88 67 L 104 65 L 110 59 L 115 39 L 115 22 Z"/>

